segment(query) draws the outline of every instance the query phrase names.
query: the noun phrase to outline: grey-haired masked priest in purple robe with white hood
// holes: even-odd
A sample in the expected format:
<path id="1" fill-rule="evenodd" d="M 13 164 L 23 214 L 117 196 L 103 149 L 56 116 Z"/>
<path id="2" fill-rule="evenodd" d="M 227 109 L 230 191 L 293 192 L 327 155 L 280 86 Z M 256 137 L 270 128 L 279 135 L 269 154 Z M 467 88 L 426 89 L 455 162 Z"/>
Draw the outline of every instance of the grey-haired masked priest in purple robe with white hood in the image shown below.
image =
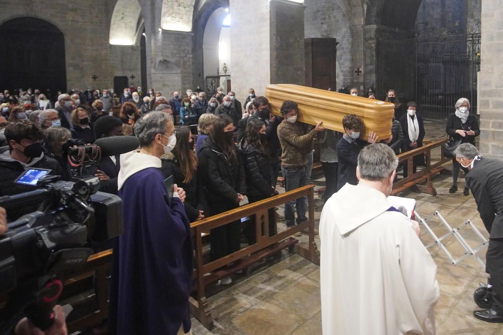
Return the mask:
<path id="1" fill-rule="evenodd" d="M 120 157 L 124 233 L 114 245 L 109 330 L 187 333 L 193 248 L 185 191 L 176 184 L 166 186 L 169 181 L 160 169 L 160 157 L 177 142 L 173 119 L 151 111 L 136 122 L 134 133 L 139 152 Z"/>

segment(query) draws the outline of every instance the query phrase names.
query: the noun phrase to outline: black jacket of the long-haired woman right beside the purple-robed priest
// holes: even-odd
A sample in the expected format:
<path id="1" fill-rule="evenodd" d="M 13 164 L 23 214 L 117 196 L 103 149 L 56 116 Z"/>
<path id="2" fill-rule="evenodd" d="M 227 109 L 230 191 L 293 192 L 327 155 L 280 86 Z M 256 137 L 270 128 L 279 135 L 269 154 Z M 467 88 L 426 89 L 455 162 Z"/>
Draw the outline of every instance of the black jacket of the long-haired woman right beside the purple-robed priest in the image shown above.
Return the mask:
<path id="1" fill-rule="evenodd" d="M 194 222 L 197 220 L 200 210 L 206 212 L 205 192 L 201 183 L 197 182 L 197 174 L 192 177 L 191 181 L 184 183 L 185 175 L 175 155 L 170 152 L 169 154 L 162 155 L 160 159 L 162 161 L 161 171 L 164 177 L 173 176 L 173 183 L 185 190 L 185 213 L 189 221 Z"/>

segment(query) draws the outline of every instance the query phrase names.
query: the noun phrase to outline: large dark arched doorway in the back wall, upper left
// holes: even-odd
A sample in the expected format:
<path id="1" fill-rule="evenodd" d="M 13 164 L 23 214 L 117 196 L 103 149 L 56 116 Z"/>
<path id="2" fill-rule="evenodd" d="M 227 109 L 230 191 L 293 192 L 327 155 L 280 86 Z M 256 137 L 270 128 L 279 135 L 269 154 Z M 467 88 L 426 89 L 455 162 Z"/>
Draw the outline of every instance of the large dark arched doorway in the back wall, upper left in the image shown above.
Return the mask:
<path id="1" fill-rule="evenodd" d="M 0 88 L 66 92 L 64 36 L 56 26 L 18 18 L 0 26 Z"/>

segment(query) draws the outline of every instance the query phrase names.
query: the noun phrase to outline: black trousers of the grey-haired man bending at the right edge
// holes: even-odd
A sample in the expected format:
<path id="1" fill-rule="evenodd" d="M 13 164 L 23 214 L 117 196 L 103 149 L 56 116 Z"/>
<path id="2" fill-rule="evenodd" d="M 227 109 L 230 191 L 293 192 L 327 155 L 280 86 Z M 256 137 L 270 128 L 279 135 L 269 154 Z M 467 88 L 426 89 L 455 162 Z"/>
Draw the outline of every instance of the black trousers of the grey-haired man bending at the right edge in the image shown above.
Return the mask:
<path id="1" fill-rule="evenodd" d="M 489 239 L 485 272 L 491 276 L 493 308 L 503 315 L 503 239 Z"/>

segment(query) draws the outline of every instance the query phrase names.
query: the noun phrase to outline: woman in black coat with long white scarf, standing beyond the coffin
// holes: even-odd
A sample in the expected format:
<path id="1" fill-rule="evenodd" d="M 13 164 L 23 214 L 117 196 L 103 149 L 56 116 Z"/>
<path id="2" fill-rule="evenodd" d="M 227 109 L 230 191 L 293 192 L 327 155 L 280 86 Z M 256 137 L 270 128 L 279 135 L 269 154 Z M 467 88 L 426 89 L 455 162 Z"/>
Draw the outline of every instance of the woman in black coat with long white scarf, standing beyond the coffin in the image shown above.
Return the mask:
<path id="1" fill-rule="evenodd" d="M 423 118 L 416 114 L 417 104 L 414 101 L 407 103 L 407 113 L 403 115 L 399 122 L 402 128 L 402 153 L 410 151 L 423 146 L 423 139 L 425 138 L 425 125 Z M 412 129 L 409 132 L 409 124 L 417 129 Z M 418 155 L 413 159 L 413 173 L 416 171 L 417 166 L 425 165 L 425 156 Z M 403 178 L 407 177 L 407 163 L 403 164 Z"/>

